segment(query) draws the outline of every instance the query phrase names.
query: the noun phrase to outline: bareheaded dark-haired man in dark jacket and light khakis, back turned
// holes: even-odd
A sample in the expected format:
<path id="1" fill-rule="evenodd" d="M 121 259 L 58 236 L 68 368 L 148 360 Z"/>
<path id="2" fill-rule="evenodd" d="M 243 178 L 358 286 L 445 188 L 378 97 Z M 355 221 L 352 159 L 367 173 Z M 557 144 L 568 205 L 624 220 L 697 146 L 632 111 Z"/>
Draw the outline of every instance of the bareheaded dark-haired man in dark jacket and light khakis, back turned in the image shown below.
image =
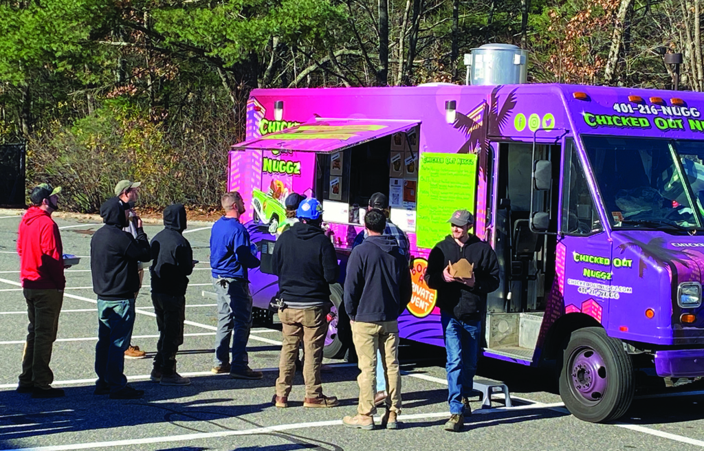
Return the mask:
<path id="1" fill-rule="evenodd" d="M 410 301 L 408 259 L 393 236 L 383 235 L 386 216 L 374 208 L 364 217 L 367 239 L 352 250 L 345 277 L 345 311 L 352 323 L 352 340 L 361 371 L 359 405 L 355 417 L 344 417 L 345 426 L 374 428 L 377 351 L 384 367 L 389 395 L 382 426 L 395 429 L 401 412 L 401 375 L 398 373 L 398 315 Z"/>

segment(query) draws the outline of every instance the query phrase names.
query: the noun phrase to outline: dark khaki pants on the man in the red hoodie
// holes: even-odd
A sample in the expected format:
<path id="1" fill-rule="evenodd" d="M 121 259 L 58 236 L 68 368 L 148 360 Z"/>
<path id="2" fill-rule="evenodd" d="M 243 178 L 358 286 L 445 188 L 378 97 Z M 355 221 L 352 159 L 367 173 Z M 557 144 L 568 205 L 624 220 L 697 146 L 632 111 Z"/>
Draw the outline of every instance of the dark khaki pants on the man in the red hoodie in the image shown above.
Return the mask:
<path id="1" fill-rule="evenodd" d="M 27 301 L 27 342 L 22 356 L 20 387 L 49 388 L 54 373 L 49 368 L 51 351 L 56 341 L 58 315 L 63 304 L 63 290 L 23 290 Z"/>

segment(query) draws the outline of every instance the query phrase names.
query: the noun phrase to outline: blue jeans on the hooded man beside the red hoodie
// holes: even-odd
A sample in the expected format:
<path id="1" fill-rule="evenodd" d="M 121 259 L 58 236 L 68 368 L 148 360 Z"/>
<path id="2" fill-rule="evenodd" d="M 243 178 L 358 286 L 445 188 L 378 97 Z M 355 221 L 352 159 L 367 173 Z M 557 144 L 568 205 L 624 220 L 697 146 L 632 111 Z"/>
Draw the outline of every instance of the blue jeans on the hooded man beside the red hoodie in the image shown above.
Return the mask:
<path id="1" fill-rule="evenodd" d="M 115 393 L 127 385 L 125 351 L 132 339 L 134 299 L 98 300 L 98 344 L 95 345 L 96 386 Z"/>

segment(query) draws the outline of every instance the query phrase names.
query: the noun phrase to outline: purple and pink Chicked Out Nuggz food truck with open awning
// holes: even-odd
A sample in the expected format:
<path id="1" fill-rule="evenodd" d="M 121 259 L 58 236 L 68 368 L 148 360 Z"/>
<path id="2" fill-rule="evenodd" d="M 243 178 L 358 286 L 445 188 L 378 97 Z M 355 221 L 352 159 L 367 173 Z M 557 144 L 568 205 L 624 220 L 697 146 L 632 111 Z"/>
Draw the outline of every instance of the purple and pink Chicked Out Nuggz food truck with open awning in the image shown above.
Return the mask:
<path id="1" fill-rule="evenodd" d="M 617 419 L 636 374 L 704 376 L 703 112 L 698 93 L 570 84 L 256 89 L 227 176 L 261 252 L 254 305 L 268 315 L 276 296 L 270 230 L 288 193 L 322 201 L 342 283 L 380 191 L 411 244 L 401 337 L 442 346 L 423 275 L 466 208 L 501 264 L 484 357 L 556 365 L 572 414 Z M 327 357 L 351 345 L 341 298 L 332 286 Z"/>

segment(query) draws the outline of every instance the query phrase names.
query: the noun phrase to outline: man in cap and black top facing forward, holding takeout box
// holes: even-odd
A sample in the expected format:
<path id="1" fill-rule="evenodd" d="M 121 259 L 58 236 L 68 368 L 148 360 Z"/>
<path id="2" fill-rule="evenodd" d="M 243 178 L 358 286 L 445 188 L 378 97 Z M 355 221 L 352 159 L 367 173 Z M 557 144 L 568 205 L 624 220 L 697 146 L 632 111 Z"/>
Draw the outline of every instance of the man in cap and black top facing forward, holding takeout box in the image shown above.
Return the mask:
<path id="1" fill-rule="evenodd" d="M 482 337 L 482 315 L 486 312 L 486 295 L 498 288 L 498 260 L 489 244 L 469 233 L 474 216 L 457 210 L 448 222 L 452 234 L 430 251 L 425 281 L 437 290 L 447 352 L 447 383 L 450 419 L 446 431 L 460 431 L 465 414 L 472 411 L 467 398 L 472 393 L 472 379 L 477 371 L 477 356 Z M 461 259 L 474 265 L 470 279 L 455 279 L 450 264 Z"/>

